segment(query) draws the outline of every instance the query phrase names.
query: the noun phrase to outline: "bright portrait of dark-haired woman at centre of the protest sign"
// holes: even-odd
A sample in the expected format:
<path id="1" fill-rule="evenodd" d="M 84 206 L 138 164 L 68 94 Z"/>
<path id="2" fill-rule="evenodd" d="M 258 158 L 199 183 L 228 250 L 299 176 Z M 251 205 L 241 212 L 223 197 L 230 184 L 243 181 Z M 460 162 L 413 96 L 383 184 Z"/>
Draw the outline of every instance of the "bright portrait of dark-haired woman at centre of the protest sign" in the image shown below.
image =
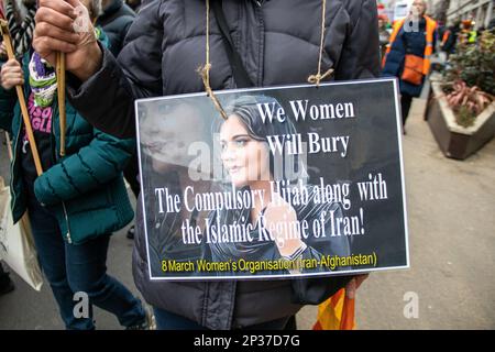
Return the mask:
<path id="1" fill-rule="evenodd" d="M 319 261 L 322 255 L 349 255 L 349 240 L 330 237 L 332 231 L 328 229 L 332 226 L 330 213 L 341 215 L 341 205 L 315 201 L 317 190 L 307 184 L 305 155 L 289 154 L 285 145 L 277 147 L 274 143 L 280 136 L 284 141 L 297 139 L 294 123 L 288 116 L 272 120 L 262 118 L 263 107 L 277 111 L 280 106 L 268 96 L 242 96 L 226 106 L 227 120 L 217 120 L 218 157 L 224 170 L 222 186 L 234 195 L 248 194 L 251 197 L 248 197 L 248 202 L 242 202 L 244 207 L 211 211 L 207 221 L 211 229 L 205 231 L 215 233 L 222 226 L 235 224 L 238 229 L 248 229 L 249 233 L 244 241 L 232 240 L 232 234 L 226 241 L 220 233 L 215 241 L 211 241 L 213 237 L 210 241 L 204 239 L 205 257 L 212 262 L 240 258 L 294 262 Z M 294 197 L 296 193 L 298 196 Z M 315 222 L 319 222 L 320 233 L 314 233 Z M 230 229 L 233 231 L 235 228 Z M 322 234 L 324 232 L 327 235 Z M 319 271 L 322 268 L 290 272 Z M 284 271 L 278 271 L 278 274 L 284 274 Z"/>

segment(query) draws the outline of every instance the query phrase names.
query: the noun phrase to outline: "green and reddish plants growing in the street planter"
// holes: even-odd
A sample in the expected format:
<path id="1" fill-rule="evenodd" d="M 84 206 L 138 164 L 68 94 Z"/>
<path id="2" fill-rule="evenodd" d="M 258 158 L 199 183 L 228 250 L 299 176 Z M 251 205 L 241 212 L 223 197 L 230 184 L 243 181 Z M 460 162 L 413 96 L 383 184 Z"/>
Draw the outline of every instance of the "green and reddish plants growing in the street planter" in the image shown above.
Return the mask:
<path id="1" fill-rule="evenodd" d="M 460 41 L 449 57 L 443 90 L 462 127 L 474 123 L 495 95 L 495 34 L 484 31 L 476 44 Z"/>

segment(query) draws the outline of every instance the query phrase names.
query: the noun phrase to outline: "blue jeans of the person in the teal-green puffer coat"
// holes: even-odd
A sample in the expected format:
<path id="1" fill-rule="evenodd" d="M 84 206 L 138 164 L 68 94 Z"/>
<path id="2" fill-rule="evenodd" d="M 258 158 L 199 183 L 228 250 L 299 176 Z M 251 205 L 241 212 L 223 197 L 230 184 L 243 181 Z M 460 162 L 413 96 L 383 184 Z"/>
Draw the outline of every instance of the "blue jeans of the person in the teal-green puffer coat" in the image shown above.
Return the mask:
<path id="1" fill-rule="evenodd" d="M 110 235 L 101 235 L 80 245 L 67 244 L 56 218 L 30 197 L 29 216 L 41 267 L 52 287 L 66 329 L 95 329 L 92 305 L 112 312 L 120 324 L 131 327 L 145 320 L 141 301 L 128 288 L 107 275 Z M 81 302 L 75 293 L 89 298 L 88 316 L 76 318 Z M 84 311 L 76 307 L 76 312 Z M 79 316 L 79 315 L 77 315 Z"/>

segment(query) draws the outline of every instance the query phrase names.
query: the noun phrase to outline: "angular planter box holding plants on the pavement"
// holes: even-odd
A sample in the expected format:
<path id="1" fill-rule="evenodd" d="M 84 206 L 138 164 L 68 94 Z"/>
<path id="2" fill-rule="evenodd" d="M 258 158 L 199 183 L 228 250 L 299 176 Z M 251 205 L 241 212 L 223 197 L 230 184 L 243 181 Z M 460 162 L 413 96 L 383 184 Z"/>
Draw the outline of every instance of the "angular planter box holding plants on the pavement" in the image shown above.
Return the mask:
<path id="1" fill-rule="evenodd" d="M 441 82 L 431 81 L 426 120 L 443 154 L 464 160 L 495 135 L 495 102 L 476 117 L 472 127 L 463 128 L 455 122 L 454 113 L 441 89 Z"/>

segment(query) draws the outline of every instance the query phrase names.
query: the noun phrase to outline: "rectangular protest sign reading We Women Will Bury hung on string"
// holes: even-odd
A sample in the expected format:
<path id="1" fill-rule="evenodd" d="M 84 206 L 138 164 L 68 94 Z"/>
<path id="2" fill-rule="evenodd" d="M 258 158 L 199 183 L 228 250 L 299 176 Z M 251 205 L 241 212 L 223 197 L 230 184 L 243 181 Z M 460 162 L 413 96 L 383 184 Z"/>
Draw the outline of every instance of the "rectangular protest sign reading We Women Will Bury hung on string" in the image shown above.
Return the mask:
<path id="1" fill-rule="evenodd" d="M 152 279 L 408 267 L 397 81 L 136 101 Z"/>

